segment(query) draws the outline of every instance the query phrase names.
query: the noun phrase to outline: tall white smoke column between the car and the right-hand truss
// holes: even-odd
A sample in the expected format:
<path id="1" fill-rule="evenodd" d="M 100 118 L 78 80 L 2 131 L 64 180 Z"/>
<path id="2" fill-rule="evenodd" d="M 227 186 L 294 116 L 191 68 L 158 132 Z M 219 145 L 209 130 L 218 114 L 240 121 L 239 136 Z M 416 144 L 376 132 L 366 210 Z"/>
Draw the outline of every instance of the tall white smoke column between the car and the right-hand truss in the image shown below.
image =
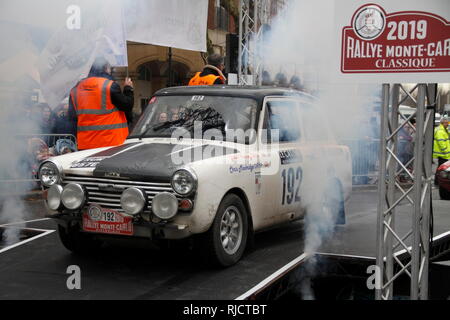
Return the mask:
<path id="1" fill-rule="evenodd" d="M 333 55 L 335 1 L 291 0 L 265 35 L 261 56 L 272 80 L 300 78 L 303 90 L 317 97 L 314 109 L 303 115 L 312 121 L 302 151 L 302 205 L 305 219 L 305 253 L 313 256 L 335 230 L 336 217 L 326 203 L 339 206 L 339 188 L 333 188 L 334 176 L 345 175 L 348 161 L 338 162 L 329 144 L 351 144 L 374 139 L 378 134 L 381 86 L 335 83 L 330 79 Z M 267 76 L 267 74 L 266 74 Z M 299 119 L 299 126 L 305 121 Z M 355 155 L 354 155 L 355 156 Z M 364 161 L 366 154 L 358 154 Z M 349 160 L 349 159 L 348 159 Z M 331 187 L 331 188 L 330 188 Z M 327 202 L 328 201 L 328 202 Z M 304 299 L 314 299 L 310 277 L 314 276 L 314 258 L 302 276 L 300 290 Z"/>

